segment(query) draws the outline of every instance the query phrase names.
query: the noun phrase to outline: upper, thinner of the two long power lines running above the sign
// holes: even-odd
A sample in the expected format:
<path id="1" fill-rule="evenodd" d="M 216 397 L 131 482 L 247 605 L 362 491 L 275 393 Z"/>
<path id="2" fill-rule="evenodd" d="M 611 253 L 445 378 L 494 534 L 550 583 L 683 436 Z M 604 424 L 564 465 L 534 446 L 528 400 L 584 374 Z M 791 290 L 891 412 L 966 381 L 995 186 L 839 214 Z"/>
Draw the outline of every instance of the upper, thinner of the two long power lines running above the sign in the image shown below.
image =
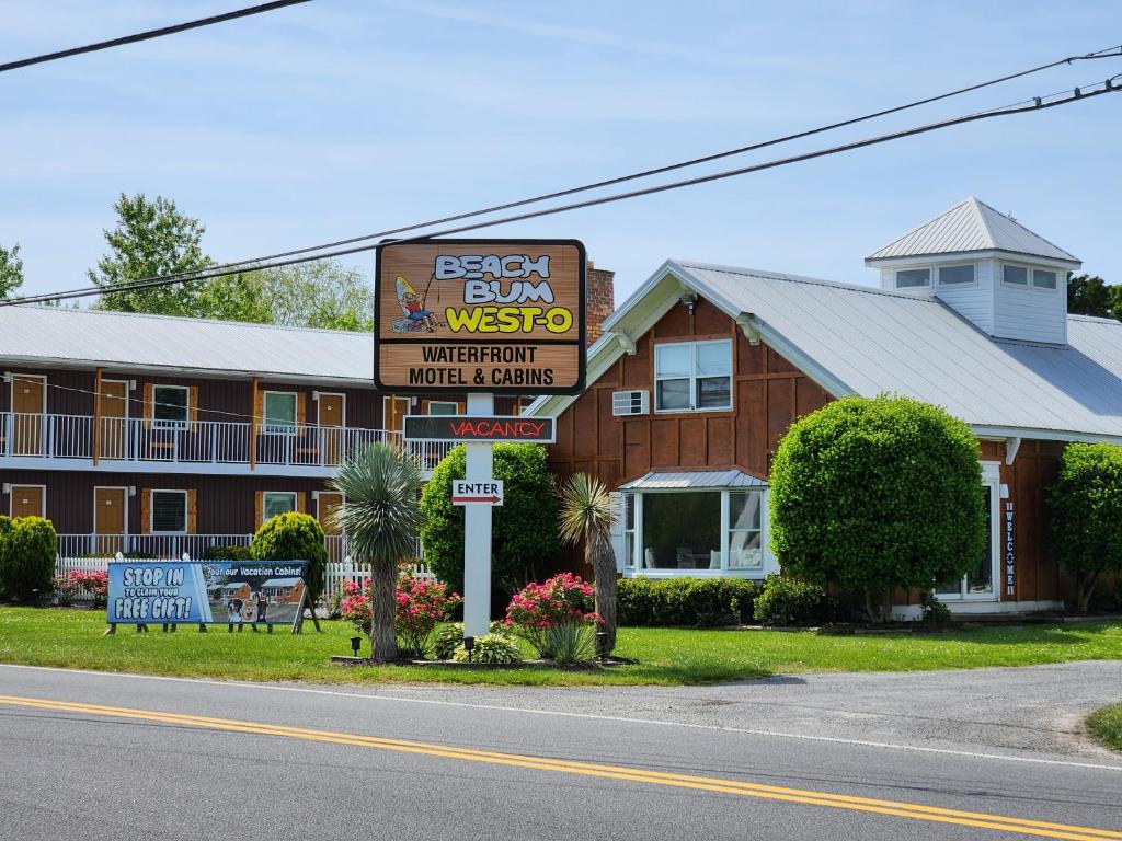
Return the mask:
<path id="1" fill-rule="evenodd" d="M 712 154 L 709 154 L 709 155 L 703 155 L 701 157 L 690 158 L 688 160 L 681 160 L 681 161 L 675 161 L 675 163 L 671 163 L 671 164 L 665 164 L 665 165 L 662 165 L 662 166 L 659 166 L 659 167 L 654 167 L 654 168 L 651 168 L 651 169 L 643 169 L 643 170 L 640 170 L 640 172 L 629 173 L 627 175 L 622 175 L 622 176 L 617 176 L 617 177 L 614 177 L 614 178 L 607 178 L 607 179 L 599 181 L 599 182 L 591 182 L 591 183 L 578 185 L 578 186 L 574 186 L 574 187 L 567 187 L 564 190 L 558 190 L 558 191 L 554 191 L 552 193 L 543 193 L 541 195 L 530 196 L 527 198 L 519 198 L 517 201 L 507 202 L 505 204 L 496 204 L 496 205 L 491 205 L 489 207 L 484 207 L 481 210 L 473 210 L 473 211 L 468 211 L 468 212 L 465 212 L 465 213 L 457 213 L 457 214 L 453 214 L 453 215 L 450 215 L 450 216 L 441 216 L 441 218 L 436 218 L 436 219 L 430 219 L 430 220 L 427 220 L 425 222 L 415 222 L 413 224 L 404 225 L 404 227 L 401 227 L 401 228 L 390 228 L 390 229 L 387 229 L 387 230 L 384 230 L 384 231 L 375 231 L 373 233 L 365 233 L 365 234 L 360 234 L 358 237 L 351 237 L 351 238 L 348 238 L 348 239 L 335 240 L 333 242 L 324 242 L 324 243 L 319 244 L 319 246 L 309 246 L 306 248 L 298 248 L 298 249 L 293 249 L 293 250 L 289 250 L 289 251 L 278 251 L 276 253 L 265 255 L 263 257 L 256 257 L 256 258 L 245 259 L 245 260 L 237 260 L 234 262 L 220 264 L 218 266 L 211 266 L 211 267 L 209 267 L 208 269 L 205 269 L 205 271 L 218 271 L 218 270 L 222 270 L 222 269 L 233 269 L 233 268 L 255 269 L 255 268 L 259 268 L 261 264 L 266 264 L 266 262 L 272 261 L 272 260 L 280 260 L 280 259 L 286 258 L 286 257 L 295 257 L 297 255 L 306 255 L 306 253 L 312 253 L 312 252 L 315 252 L 315 251 L 325 251 L 327 249 L 330 249 L 330 248 L 339 248 L 341 246 L 350 246 L 350 244 L 353 244 L 356 242 L 365 242 L 365 241 L 369 241 L 369 240 L 381 239 L 384 237 L 393 237 L 393 235 L 398 234 L 398 233 L 408 233 L 411 231 L 416 231 L 416 230 L 420 230 L 422 228 L 431 228 L 433 225 L 448 224 L 450 222 L 460 222 L 460 221 L 463 221 L 463 220 L 467 220 L 467 219 L 475 219 L 475 218 L 478 218 L 478 216 L 489 215 L 491 213 L 498 213 L 498 212 L 505 211 L 505 210 L 513 210 L 515 207 L 523 207 L 523 206 L 526 206 L 526 205 L 530 205 L 530 204 L 537 204 L 537 203 L 541 203 L 541 202 L 550 201 L 552 198 L 562 198 L 564 196 L 576 195 L 576 194 L 579 194 L 579 193 L 586 193 L 586 192 L 594 191 L 594 190 L 600 190 L 603 187 L 614 186 L 614 185 L 623 184 L 623 183 L 631 182 L 631 181 L 638 181 L 638 179 L 642 179 L 642 178 L 649 178 L 649 177 L 654 176 L 654 175 L 662 175 L 664 173 L 674 172 L 674 170 L 679 170 L 679 169 L 684 169 L 684 168 L 688 168 L 688 167 L 698 166 L 700 164 L 708 164 L 708 163 L 712 163 L 715 160 L 720 160 L 723 158 L 734 157 L 734 156 L 737 156 L 737 155 L 744 155 L 744 154 L 749 153 L 749 151 L 756 151 L 758 149 L 764 149 L 764 148 L 767 148 L 767 147 L 771 147 L 771 146 L 778 146 L 780 144 L 790 142 L 791 140 L 799 140 L 799 139 L 802 139 L 802 138 L 812 137 L 813 135 L 820 135 L 820 133 L 824 133 L 824 132 L 827 132 L 827 131 L 833 131 L 835 129 L 845 128 L 845 127 L 848 127 L 848 126 L 855 126 L 857 123 L 865 122 L 865 121 L 868 121 L 868 120 L 873 120 L 873 119 L 876 119 L 876 118 L 880 118 L 880 117 L 885 117 L 888 114 L 899 113 L 901 111 L 907 111 L 907 110 L 910 110 L 910 109 L 913 109 L 913 108 L 919 108 L 920 105 L 930 104 L 932 102 L 938 102 L 940 100 L 950 99 L 953 96 L 958 96 L 958 95 L 962 95 L 964 93 L 969 93 L 969 92 L 978 91 L 978 90 L 982 90 L 982 89 L 985 89 L 985 87 L 991 87 L 991 86 L 1000 84 L 1002 82 L 1008 82 L 1008 81 L 1011 81 L 1011 80 L 1014 80 L 1014 78 L 1020 78 L 1022 76 L 1028 76 L 1028 75 L 1031 75 L 1031 74 L 1034 74 L 1034 73 L 1039 73 L 1039 72 L 1045 71 L 1045 70 L 1051 70 L 1054 67 L 1058 67 L 1058 66 L 1061 66 L 1064 64 L 1070 65 L 1070 64 L 1073 64 L 1075 62 L 1093 61 L 1093 59 L 1097 59 L 1097 58 L 1114 58 L 1114 57 L 1119 57 L 1119 56 L 1122 56 L 1122 45 L 1120 45 L 1120 46 L 1104 47 L 1103 49 L 1097 49 L 1097 50 L 1094 50 L 1092 53 L 1086 53 L 1084 55 L 1066 56 L 1064 58 L 1058 58 L 1058 59 L 1056 59 L 1054 62 L 1049 62 L 1047 64 L 1041 64 L 1041 65 L 1038 65 L 1036 67 L 1030 67 L 1028 70 L 1018 71 L 1015 73 L 1010 73 L 1010 74 L 1006 74 L 1004 76 L 999 76 L 996 78 L 986 80 L 984 82 L 977 82 L 975 84 L 967 85 L 966 87 L 959 87 L 959 89 L 956 89 L 954 91 L 947 91 L 945 93 L 936 94 L 934 96 L 927 96 L 925 99 L 913 100 L 912 102 L 907 102 L 907 103 L 904 103 L 902 105 L 894 105 L 892 108 L 882 109 L 880 111 L 873 111 L 871 113 L 862 114 L 859 117 L 848 118 L 848 119 L 842 120 L 839 122 L 828 123 L 826 126 L 819 126 L 819 127 L 816 127 L 816 128 L 812 128 L 812 129 L 806 129 L 806 130 L 802 130 L 802 131 L 794 132 L 792 135 L 784 135 L 782 137 L 776 137 L 776 138 L 772 138 L 772 139 L 769 139 L 769 140 L 762 140 L 762 141 L 758 141 L 758 142 L 755 142 L 755 144 L 749 144 L 747 146 L 741 146 L 741 147 L 737 147 L 737 148 L 734 148 L 734 149 L 726 149 L 726 150 L 723 150 L 723 151 L 717 151 L 717 153 L 712 153 Z M 1059 93 L 1065 93 L 1065 92 L 1066 91 L 1060 91 Z M 1051 95 L 1057 95 L 1057 94 L 1050 94 L 1050 96 Z M 1048 99 L 1048 98 L 1046 96 L 1043 99 Z M 1019 104 L 1023 104 L 1024 102 L 1031 102 L 1031 101 L 1032 100 L 1024 100 L 1022 102 L 1017 102 L 1017 103 L 1013 103 L 1013 104 L 1019 105 Z M 288 264 L 276 264 L 276 265 L 277 266 L 282 266 L 282 265 L 288 265 Z M 236 274 L 236 272 L 232 272 L 232 274 Z M 197 275 L 199 275 L 199 271 L 181 271 L 181 272 L 175 272 L 175 274 L 172 274 L 172 275 L 163 275 L 163 276 L 153 276 L 153 277 L 147 277 L 147 278 L 138 278 L 137 280 L 135 280 L 132 283 L 141 284 L 141 283 L 145 283 L 145 281 L 148 281 L 148 280 L 157 280 L 157 279 L 160 279 L 160 280 L 163 280 L 163 279 L 171 280 L 172 278 L 193 279 Z M 226 277 L 226 276 L 227 275 L 217 275 L 215 277 Z M 86 288 L 92 288 L 92 287 L 86 287 Z M 127 292 L 127 290 L 128 289 L 125 286 L 117 287 L 117 288 L 113 289 L 113 292 Z M 71 292 L 77 292 L 77 290 L 75 289 L 75 290 L 71 290 Z"/>

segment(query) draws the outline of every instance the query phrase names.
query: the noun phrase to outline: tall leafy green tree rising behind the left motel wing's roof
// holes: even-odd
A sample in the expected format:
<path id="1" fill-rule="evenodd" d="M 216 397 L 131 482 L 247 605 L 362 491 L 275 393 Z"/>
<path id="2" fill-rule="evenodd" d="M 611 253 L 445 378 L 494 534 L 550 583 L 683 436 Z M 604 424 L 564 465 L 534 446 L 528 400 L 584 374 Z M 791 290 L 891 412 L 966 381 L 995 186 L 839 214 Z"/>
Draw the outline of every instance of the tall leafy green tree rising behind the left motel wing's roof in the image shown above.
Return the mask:
<path id="1" fill-rule="evenodd" d="M 113 287 L 212 266 L 201 244 L 206 229 L 180 213 L 175 202 L 163 196 L 149 202 L 144 193 L 135 196 L 121 193 L 113 211 L 117 227 L 105 231 L 109 253 L 98 261 L 95 271 L 88 272 L 90 280 L 103 289 L 95 306 L 126 313 L 197 315 L 197 290 L 192 284 L 131 292 L 113 292 Z"/>

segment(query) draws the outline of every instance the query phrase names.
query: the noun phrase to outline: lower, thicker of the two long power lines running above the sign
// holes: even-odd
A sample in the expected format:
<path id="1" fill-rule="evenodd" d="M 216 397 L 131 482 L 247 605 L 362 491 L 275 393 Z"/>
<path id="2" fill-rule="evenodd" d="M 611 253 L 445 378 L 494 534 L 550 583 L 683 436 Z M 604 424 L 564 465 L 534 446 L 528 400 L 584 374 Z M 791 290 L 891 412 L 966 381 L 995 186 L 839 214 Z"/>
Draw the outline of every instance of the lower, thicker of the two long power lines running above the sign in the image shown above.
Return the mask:
<path id="1" fill-rule="evenodd" d="M 828 157 L 831 155 L 837 155 L 844 151 L 852 151 L 854 149 L 861 149 L 868 146 L 876 146 L 880 144 L 889 142 L 892 140 L 900 140 L 905 137 L 913 137 L 916 135 L 923 135 L 931 131 L 937 131 L 939 129 L 949 128 L 951 126 L 960 126 L 968 122 L 977 122 L 980 120 L 993 119 L 996 117 L 1009 117 L 1013 114 L 1028 113 L 1032 111 L 1042 111 L 1051 108 L 1057 108 L 1060 105 L 1070 104 L 1073 102 L 1084 101 L 1100 96 L 1104 93 L 1115 93 L 1122 91 L 1116 82 L 1122 78 L 1122 74 L 1112 76 L 1105 82 L 1098 83 L 1101 86 L 1094 90 L 1088 90 L 1087 87 L 1075 87 L 1063 93 L 1069 93 L 1070 95 L 1064 99 L 1054 99 L 1051 101 L 1045 101 L 1045 98 L 1034 98 L 1031 101 L 1027 101 L 1028 104 L 1017 104 L 1013 107 L 995 108 L 987 111 L 977 111 L 969 114 L 964 114 L 962 117 L 951 118 L 948 120 L 940 120 L 938 122 L 926 123 L 922 126 L 916 126 L 909 129 L 902 129 L 899 131 L 892 131 L 884 135 L 877 135 L 870 138 L 864 138 L 862 140 L 855 140 L 848 144 L 842 144 L 838 146 L 831 146 L 824 149 L 816 149 L 813 151 L 802 153 L 799 155 L 792 155 L 785 158 L 776 158 L 773 160 L 763 161 L 760 164 L 752 164 L 748 166 L 736 167 L 734 169 L 725 169 L 718 173 L 710 173 L 708 175 L 699 175 L 692 178 L 683 178 L 680 181 L 666 182 L 663 184 L 655 184 L 650 187 L 641 187 L 638 190 L 627 191 L 624 193 L 614 193 L 606 196 L 598 196 L 596 198 L 587 198 L 580 202 L 571 202 L 569 204 L 554 205 L 551 207 L 544 207 L 541 210 L 526 211 L 524 213 L 517 213 L 507 216 L 500 216 L 498 219 L 485 220 L 482 222 L 473 222 L 471 224 L 458 225 L 454 228 L 444 228 L 436 231 L 426 231 L 425 233 L 415 234 L 412 237 L 404 237 L 394 240 L 394 242 L 413 242 L 416 240 L 424 240 L 432 237 L 448 237 L 456 233 L 465 233 L 467 231 L 476 231 L 484 228 L 493 228 L 495 225 L 509 224 L 512 222 L 521 222 L 528 219 L 537 219 L 541 216 L 550 216 L 559 213 L 568 213 L 574 210 L 581 210 L 585 207 L 594 207 L 603 204 L 611 204 L 615 202 L 627 201 L 631 198 L 637 198 L 640 196 L 654 195 L 657 193 L 665 193 L 673 190 L 681 190 L 684 187 L 697 186 L 700 184 L 708 184 L 711 182 L 724 181 L 726 178 L 732 178 L 739 175 L 747 175 L 749 173 L 757 173 L 764 169 L 774 169 L 782 166 L 789 166 L 791 164 L 801 163 L 804 160 L 812 160 L 816 158 Z M 258 269 L 269 269 L 279 268 L 282 266 L 294 266 L 304 262 L 311 262 L 313 260 L 322 260 L 330 257 L 342 257 L 346 255 L 359 253 L 362 251 L 373 251 L 381 247 L 381 243 L 374 244 L 362 244 L 355 246 L 351 248 L 337 249 L 333 251 L 327 251 L 323 253 L 316 253 L 312 256 L 295 257 L 292 259 L 275 260 L 267 264 L 258 264 L 255 268 Z M 81 298 L 91 295 L 100 295 L 104 292 L 135 292 L 139 289 L 150 289 L 160 286 L 169 286 L 173 284 L 187 283 L 194 280 L 211 280 L 221 277 L 229 277 L 231 275 L 240 274 L 243 268 L 224 268 L 215 267 L 211 270 L 202 270 L 187 276 L 173 276 L 163 278 L 150 278 L 138 280 L 129 284 L 120 284 L 113 287 L 84 287 L 80 289 L 72 289 L 62 293 L 50 293 L 45 295 L 34 295 L 20 299 L 11 301 L 0 301 L 0 306 L 12 306 L 16 304 L 35 304 L 35 303 L 46 303 L 49 301 L 63 301 L 67 298 Z"/>

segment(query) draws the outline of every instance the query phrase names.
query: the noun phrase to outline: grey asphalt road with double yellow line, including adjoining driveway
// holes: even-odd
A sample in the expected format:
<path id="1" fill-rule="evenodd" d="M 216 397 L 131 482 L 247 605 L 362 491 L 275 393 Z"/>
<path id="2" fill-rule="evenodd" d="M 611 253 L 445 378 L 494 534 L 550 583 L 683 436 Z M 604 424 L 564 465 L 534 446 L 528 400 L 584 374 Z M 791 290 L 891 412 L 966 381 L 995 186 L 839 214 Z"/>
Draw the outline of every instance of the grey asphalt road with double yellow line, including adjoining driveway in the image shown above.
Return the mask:
<path id="1" fill-rule="evenodd" d="M 0 666 L 0 839 L 1122 839 L 1122 760 L 1072 724 L 1120 678 L 356 690 Z"/>

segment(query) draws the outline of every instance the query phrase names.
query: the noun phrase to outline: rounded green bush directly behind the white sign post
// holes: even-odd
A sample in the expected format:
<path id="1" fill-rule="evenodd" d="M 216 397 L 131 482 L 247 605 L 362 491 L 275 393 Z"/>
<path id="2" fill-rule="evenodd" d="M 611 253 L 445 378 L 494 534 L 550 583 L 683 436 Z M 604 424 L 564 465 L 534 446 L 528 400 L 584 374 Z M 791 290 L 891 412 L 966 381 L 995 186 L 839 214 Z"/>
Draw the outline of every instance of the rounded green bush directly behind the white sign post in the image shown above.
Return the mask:
<path id="1" fill-rule="evenodd" d="M 457 446 L 436 465 L 421 495 L 421 543 L 436 576 L 463 592 L 463 507 L 451 502 L 452 480 L 465 478 L 467 451 Z M 507 594 L 543 573 L 560 554 L 560 500 L 545 450 L 537 444 L 496 444 L 496 479 L 503 505 L 491 517 L 491 584 Z"/>

